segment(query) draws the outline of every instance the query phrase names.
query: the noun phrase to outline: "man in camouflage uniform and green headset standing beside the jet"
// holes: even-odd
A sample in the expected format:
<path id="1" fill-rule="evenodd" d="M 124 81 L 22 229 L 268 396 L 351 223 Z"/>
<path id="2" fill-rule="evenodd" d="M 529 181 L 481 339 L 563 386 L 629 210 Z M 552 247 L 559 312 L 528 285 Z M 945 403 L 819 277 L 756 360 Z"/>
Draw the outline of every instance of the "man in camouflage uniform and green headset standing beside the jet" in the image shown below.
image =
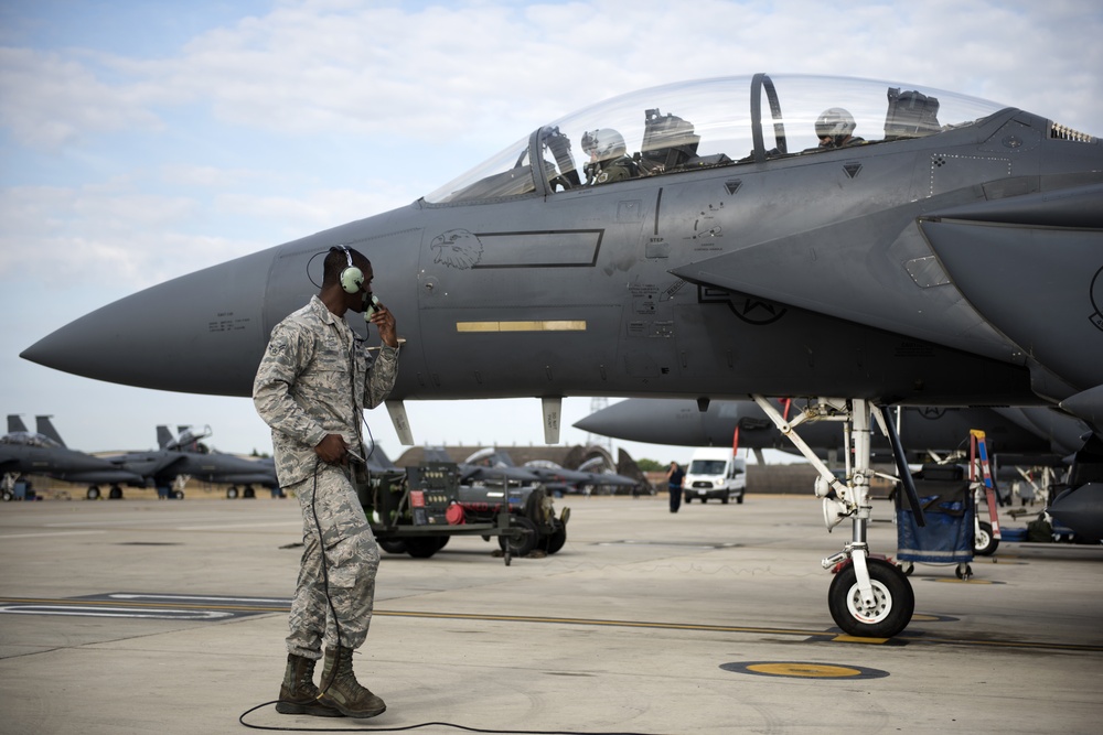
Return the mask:
<path id="1" fill-rule="evenodd" d="M 374 361 L 344 321 L 367 307 L 372 278 L 364 256 L 332 248 L 320 293 L 272 329 L 253 385 L 257 412 L 272 430 L 280 486 L 302 508 L 304 548 L 276 705 L 285 714 L 371 717 L 386 709 L 352 673 L 352 651 L 372 619 L 379 550 L 350 461 L 363 451 L 363 410 L 386 399 L 398 367 L 395 318 L 385 306 L 370 320 L 383 341 Z M 313 670 L 323 642 L 319 692 Z"/>

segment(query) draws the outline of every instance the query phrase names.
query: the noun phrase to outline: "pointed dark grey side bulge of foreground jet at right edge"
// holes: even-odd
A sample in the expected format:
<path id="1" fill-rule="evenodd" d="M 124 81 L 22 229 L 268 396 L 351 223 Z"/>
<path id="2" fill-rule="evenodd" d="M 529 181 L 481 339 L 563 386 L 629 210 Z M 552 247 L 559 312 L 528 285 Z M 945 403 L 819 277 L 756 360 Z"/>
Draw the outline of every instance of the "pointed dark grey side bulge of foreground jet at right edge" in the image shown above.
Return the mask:
<path id="1" fill-rule="evenodd" d="M 989 324 L 1074 389 L 1065 396 L 1103 385 L 1101 202 L 1103 184 L 1093 184 L 919 220 L 954 285 Z"/>

